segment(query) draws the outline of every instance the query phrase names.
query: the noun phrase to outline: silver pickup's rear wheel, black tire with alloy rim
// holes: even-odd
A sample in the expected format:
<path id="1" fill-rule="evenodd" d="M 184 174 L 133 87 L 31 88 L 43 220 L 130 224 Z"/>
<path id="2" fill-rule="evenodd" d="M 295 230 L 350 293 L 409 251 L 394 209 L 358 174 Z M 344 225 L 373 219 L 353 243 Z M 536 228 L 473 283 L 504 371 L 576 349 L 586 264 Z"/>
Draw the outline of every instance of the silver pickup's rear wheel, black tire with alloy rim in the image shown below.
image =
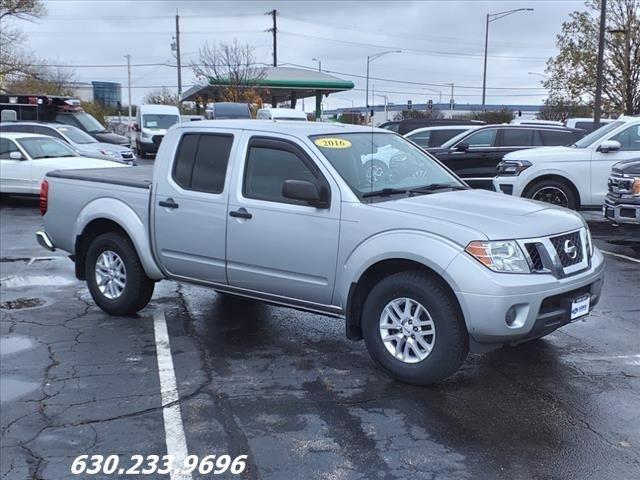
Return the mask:
<path id="1" fill-rule="evenodd" d="M 122 269 L 119 268 L 120 264 Z M 109 270 L 107 266 L 113 266 L 112 272 L 123 287 L 115 281 L 98 285 L 97 277 L 100 274 L 97 271 L 106 272 Z M 144 272 L 131 241 L 121 233 L 104 233 L 91 242 L 87 250 L 85 278 L 96 305 L 116 316 L 129 316 L 142 310 L 151 300 L 155 287 L 153 280 Z M 111 286 L 114 290 L 110 289 Z"/>

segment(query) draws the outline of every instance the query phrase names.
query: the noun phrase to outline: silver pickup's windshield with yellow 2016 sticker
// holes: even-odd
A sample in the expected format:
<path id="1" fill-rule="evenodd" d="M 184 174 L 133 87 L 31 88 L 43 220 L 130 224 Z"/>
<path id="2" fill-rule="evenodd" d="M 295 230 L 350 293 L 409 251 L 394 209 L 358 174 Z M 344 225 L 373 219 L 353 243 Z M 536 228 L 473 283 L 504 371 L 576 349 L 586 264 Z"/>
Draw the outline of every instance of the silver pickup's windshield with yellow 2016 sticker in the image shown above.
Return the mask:
<path id="1" fill-rule="evenodd" d="M 338 133 L 310 138 L 361 199 L 467 188 L 433 157 L 393 133 Z"/>

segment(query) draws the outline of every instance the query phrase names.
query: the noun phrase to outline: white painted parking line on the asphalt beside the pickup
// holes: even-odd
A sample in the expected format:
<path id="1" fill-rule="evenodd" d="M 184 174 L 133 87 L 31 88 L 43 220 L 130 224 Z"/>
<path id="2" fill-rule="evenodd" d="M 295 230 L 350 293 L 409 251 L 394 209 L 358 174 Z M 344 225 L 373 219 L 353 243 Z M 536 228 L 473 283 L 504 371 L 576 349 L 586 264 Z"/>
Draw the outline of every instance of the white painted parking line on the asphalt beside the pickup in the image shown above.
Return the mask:
<path id="1" fill-rule="evenodd" d="M 164 435 L 167 443 L 167 454 L 173 455 L 173 469 L 170 473 L 171 480 L 193 480 L 190 473 L 179 471 L 187 458 L 187 439 L 182 425 L 180 404 L 176 374 L 173 370 L 173 358 L 171 357 L 171 345 L 167 322 L 164 312 L 156 312 L 153 315 L 153 330 L 156 337 L 156 354 L 158 356 L 158 373 L 160 375 L 160 398 L 162 405 L 162 417 L 164 419 Z M 172 405 L 170 405 L 172 404 Z"/>

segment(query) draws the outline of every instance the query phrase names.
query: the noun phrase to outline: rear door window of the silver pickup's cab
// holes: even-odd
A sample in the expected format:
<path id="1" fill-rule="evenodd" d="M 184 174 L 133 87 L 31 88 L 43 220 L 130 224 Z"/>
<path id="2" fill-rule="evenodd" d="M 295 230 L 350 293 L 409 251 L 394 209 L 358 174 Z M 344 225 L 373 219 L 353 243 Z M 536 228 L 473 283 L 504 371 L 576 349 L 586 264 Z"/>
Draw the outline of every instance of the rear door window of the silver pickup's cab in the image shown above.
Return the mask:
<path id="1" fill-rule="evenodd" d="M 232 144 L 232 135 L 184 135 L 173 165 L 173 180 L 186 190 L 222 192 Z"/>

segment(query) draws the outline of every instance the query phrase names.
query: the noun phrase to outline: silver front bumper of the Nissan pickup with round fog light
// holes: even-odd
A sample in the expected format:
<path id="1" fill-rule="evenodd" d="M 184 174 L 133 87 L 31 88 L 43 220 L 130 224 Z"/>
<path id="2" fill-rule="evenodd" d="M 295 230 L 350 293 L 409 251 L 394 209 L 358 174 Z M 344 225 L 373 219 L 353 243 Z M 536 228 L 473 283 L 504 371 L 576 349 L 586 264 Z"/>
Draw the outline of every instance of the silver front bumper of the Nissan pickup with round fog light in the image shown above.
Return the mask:
<path id="1" fill-rule="evenodd" d="M 566 325 L 570 322 L 571 300 L 585 293 L 591 295 L 592 309 L 600 299 L 604 259 L 594 249 L 587 270 L 555 278 L 544 273 L 495 273 L 461 254 L 449 265 L 447 273 L 463 279 L 455 294 L 472 347 L 474 343 L 499 347 L 531 340 Z M 506 315 L 512 307 L 517 312 L 516 319 L 508 325 Z"/>

